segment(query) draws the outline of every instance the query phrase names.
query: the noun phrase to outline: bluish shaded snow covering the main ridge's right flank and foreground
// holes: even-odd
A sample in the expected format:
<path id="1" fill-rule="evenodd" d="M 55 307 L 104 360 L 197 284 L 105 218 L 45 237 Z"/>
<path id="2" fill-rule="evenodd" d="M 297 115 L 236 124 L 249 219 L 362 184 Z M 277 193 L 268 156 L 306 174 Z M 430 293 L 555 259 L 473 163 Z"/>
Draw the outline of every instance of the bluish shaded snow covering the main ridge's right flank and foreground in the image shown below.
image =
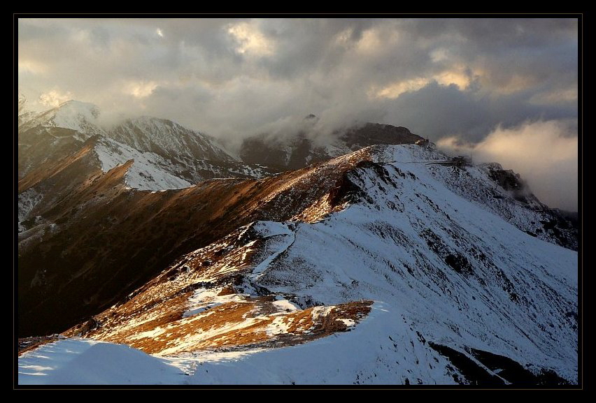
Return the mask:
<path id="1" fill-rule="evenodd" d="M 441 156 L 416 146 L 382 150 L 374 159 L 385 173 L 350 174 L 367 201 L 292 230 L 257 224 L 284 238 L 253 268 L 257 284 L 325 305 L 375 301 L 349 332 L 278 349 L 159 358 L 61 340 L 23 354 L 19 383 L 455 383 L 450 362 L 429 342 L 489 351 L 576 382 L 577 253 L 502 218 L 516 224 L 529 210 L 483 203 L 466 189 L 473 180 L 457 182 L 450 167 L 424 163 Z M 455 270 L 448 255 L 464 256 L 469 268 Z M 201 307 L 191 300 L 187 315 L 194 309 Z"/>

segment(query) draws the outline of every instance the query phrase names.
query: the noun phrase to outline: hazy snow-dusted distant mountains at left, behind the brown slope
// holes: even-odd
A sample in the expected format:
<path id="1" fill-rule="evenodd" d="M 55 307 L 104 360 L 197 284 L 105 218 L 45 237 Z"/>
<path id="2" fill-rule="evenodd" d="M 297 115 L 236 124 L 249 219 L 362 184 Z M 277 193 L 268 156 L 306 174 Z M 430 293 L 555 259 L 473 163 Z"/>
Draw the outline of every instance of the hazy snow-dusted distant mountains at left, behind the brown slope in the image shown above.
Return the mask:
<path id="1" fill-rule="evenodd" d="M 48 154 L 59 154 L 69 143 L 71 148 L 76 144 L 83 147 L 91 137 L 98 138 L 93 152 L 103 172 L 134 160 L 125 180 L 135 189 L 182 189 L 213 177 L 262 177 L 273 172 L 238 161 L 215 138 L 168 119 L 142 116 L 107 125 L 92 103 L 67 101 L 40 113 L 28 112 L 26 105 L 23 99 L 19 137 L 24 163 L 20 177 L 43 163 Z M 29 161 L 29 154 L 35 154 L 37 147 L 41 155 Z"/>

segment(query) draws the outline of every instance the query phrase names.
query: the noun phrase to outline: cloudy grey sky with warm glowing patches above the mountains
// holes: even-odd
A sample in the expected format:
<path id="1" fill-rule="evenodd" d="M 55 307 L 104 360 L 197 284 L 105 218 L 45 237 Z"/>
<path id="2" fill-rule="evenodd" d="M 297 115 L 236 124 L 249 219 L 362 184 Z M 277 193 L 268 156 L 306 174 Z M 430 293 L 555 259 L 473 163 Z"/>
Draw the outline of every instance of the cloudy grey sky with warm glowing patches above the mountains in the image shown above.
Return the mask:
<path id="1" fill-rule="evenodd" d="M 577 210 L 576 19 L 20 19 L 29 107 L 95 103 L 234 147 L 257 133 L 406 126 Z"/>

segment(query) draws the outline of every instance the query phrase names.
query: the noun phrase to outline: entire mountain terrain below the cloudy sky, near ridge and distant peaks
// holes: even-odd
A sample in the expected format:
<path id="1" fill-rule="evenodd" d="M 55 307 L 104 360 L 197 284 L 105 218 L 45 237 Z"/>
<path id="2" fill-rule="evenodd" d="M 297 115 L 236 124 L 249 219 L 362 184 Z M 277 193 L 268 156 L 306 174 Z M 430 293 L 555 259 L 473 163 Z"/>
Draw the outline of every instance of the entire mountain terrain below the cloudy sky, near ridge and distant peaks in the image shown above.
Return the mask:
<path id="1" fill-rule="evenodd" d="M 578 382 L 577 220 L 498 163 L 19 107 L 20 383 Z"/>

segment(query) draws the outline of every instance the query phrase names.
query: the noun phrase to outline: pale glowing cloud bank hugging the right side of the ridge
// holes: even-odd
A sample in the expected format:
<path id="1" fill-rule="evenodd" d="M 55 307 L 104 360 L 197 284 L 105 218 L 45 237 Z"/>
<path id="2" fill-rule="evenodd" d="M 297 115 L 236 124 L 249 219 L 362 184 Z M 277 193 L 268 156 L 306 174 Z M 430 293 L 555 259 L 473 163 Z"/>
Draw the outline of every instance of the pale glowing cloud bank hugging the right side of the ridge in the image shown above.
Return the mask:
<path id="1" fill-rule="evenodd" d="M 492 131 L 477 144 L 456 136 L 442 138 L 439 147 L 471 154 L 474 162 L 498 161 L 530 184 L 530 190 L 549 206 L 577 211 L 578 138 L 573 122 L 525 122 Z"/>

